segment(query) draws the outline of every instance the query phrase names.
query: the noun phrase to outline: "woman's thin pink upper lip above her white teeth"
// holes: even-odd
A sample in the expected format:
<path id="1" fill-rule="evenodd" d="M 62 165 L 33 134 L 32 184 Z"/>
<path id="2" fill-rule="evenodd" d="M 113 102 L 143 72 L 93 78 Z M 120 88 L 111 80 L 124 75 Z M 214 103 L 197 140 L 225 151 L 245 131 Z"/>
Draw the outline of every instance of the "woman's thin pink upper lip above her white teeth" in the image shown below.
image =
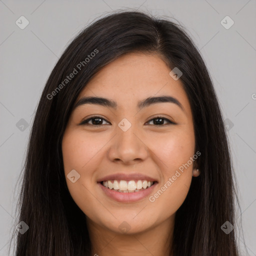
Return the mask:
<path id="1" fill-rule="evenodd" d="M 147 175 L 141 174 L 141 173 L 114 173 L 110 174 L 107 176 L 104 176 L 102 178 L 99 178 L 97 182 L 105 181 L 105 180 L 135 180 L 135 179 L 140 179 L 140 180 L 147 180 L 147 181 L 157 181 L 155 178 L 149 177 Z"/>

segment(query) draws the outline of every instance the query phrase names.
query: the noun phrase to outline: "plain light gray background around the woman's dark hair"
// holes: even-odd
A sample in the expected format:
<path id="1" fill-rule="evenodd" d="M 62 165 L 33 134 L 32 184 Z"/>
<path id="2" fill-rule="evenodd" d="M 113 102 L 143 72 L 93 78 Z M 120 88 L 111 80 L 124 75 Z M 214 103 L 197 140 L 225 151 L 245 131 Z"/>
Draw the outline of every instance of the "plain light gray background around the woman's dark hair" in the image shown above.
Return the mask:
<path id="1" fill-rule="evenodd" d="M 50 71 L 81 28 L 125 8 L 177 19 L 200 49 L 223 117 L 228 118 L 242 212 L 237 221 L 241 219 L 246 244 L 238 237 L 241 254 L 256 255 L 256 0 L 0 0 L 0 256 L 7 255 L 10 228 L 17 224 L 18 176 L 33 113 Z M 15 23 L 21 15 L 29 21 L 24 29 Z M 220 23 L 226 15 L 234 21 L 229 29 Z"/>

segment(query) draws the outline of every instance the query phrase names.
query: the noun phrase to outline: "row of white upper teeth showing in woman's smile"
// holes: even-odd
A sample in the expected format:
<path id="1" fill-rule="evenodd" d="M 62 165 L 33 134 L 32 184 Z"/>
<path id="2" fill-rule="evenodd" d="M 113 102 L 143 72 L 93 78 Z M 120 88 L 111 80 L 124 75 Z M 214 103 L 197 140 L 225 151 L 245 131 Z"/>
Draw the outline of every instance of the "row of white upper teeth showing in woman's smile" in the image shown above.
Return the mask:
<path id="1" fill-rule="evenodd" d="M 103 185 L 105 187 L 108 187 L 109 189 L 115 189 L 115 190 L 130 190 L 134 191 L 136 189 L 146 188 L 153 184 L 153 181 L 147 181 L 147 180 L 137 180 L 135 182 L 134 180 L 114 180 L 113 182 L 111 180 L 103 181 Z"/>

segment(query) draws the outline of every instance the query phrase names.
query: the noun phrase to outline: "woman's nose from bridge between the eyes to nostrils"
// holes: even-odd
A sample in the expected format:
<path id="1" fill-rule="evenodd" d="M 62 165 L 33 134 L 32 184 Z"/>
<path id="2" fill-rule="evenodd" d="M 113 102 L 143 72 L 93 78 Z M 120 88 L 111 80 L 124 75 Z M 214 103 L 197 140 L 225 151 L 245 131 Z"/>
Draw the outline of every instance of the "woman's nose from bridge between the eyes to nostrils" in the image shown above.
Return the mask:
<path id="1" fill-rule="evenodd" d="M 116 135 L 109 141 L 108 157 L 111 161 L 129 165 L 148 157 L 146 138 L 134 126 L 131 125 L 126 131 L 116 127 Z"/>

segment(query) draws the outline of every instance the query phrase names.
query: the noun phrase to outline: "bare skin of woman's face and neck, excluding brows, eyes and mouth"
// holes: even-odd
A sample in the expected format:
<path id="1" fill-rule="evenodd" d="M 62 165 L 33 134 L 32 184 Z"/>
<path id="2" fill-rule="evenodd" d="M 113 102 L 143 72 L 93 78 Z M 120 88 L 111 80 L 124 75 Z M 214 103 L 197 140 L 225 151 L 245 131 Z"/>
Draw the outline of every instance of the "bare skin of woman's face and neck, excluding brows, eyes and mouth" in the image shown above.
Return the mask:
<path id="1" fill-rule="evenodd" d="M 196 161 L 154 202 L 148 196 L 117 202 L 96 183 L 108 174 L 139 172 L 159 181 L 153 195 L 195 154 L 190 104 L 180 79 L 174 80 L 170 70 L 157 54 L 127 53 L 103 67 L 77 97 L 76 101 L 83 96 L 101 96 L 117 103 L 116 109 L 96 104 L 73 109 L 62 140 L 67 186 L 86 214 L 91 255 L 162 256 L 172 251 L 166 244 L 172 238 L 175 212 L 187 195 L 192 176 L 199 175 Z M 136 108 L 137 101 L 159 95 L 175 97 L 184 111 L 170 102 Z M 93 126 L 94 119 L 78 125 L 93 115 L 103 118 L 99 125 Z M 176 124 L 155 124 L 151 119 L 157 115 Z M 125 132 L 118 126 L 123 118 L 131 123 Z M 66 176 L 72 169 L 80 174 L 74 183 Z M 130 226 L 126 233 L 118 228 L 123 221 Z"/>

